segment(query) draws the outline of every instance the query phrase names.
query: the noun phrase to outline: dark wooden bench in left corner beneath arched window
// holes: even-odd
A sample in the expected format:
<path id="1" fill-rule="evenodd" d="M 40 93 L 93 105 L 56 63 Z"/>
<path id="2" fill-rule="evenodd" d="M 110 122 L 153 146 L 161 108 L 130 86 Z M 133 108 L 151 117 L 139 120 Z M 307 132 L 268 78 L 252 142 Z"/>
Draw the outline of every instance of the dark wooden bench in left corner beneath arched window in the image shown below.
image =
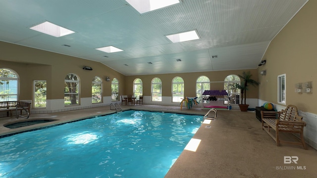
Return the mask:
<path id="1" fill-rule="evenodd" d="M 6 115 L 12 116 L 12 111 L 19 110 L 22 115 L 23 110 L 27 110 L 30 113 L 31 103 L 25 101 L 0 101 L 0 111 L 6 111 Z"/>

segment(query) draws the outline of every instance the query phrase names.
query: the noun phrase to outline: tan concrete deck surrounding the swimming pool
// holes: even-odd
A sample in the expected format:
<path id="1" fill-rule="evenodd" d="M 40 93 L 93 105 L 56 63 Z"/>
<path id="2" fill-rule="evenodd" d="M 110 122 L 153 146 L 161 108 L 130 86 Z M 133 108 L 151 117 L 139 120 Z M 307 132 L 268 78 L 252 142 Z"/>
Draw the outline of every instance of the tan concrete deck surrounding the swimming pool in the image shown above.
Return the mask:
<path id="1" fill-rule="evenodd" d="M 201 108 L 180 110 L 180 107 L 159 105 L 124 105 L 122 108 L 199 115 L 208 112 Z M 0 136 L 109 113 L 115 111 L 110 110 L 109 106 L 104 106 L 32 114 L 29 119 L 45 118 L 58 121 L 16 129 L 5 128 L 3 124 L 26 119 L 2 117 Z M 289 135 L 283 136 L 293 139 L 288 137 Z M 275 141 L 262 130 L 255 112 L 218 110 L 217 120 L 202 124 L 193 138 L 201 140 L 197 150 L 184 150 L 165 178 L 315 178 L 317 175 L 317 151 L 310 146 L 308 150 L 300 145 L 276 146 Z M 284 156 L 297 156 L 297 164 L 284 164 Z"/>

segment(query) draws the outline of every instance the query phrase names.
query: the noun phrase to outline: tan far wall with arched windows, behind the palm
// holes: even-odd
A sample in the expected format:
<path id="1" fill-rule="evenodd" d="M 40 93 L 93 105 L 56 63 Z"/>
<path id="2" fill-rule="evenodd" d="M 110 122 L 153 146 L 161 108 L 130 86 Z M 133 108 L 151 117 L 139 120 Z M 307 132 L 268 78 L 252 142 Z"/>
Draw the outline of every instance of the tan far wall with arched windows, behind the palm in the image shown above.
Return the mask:
<path id="1" fill-rule="evenodd" d="M 138 75 L 126 76 L 126 90 L 125 93 L 133 93 L 133 81 L 140 78 L 143 83 L 143 95 L 151 96 L 151 82 L 155 77 L 162 81 L 162 95 L 171 96 L 172 80 L 174 77 L 181 77 L 184 79 L 184 95 L 196 96 L 196 81 L 200 76 L 207 76 L 211 82 L 223 82 L 228 75 L 242 75 L 243 71 L 250 71 L 253 75 L 252 79 L 258 79 L 258 70 L 235 70 L 235 71 L 213 71 L 213 72 L 193 72 L 193 73 L 174 73 L 174 74 L 157 74 L 157 75 Z M 222 90 L 223 83 L 211 83 L 211 90 Z M 247 93 L 247 98 L 258 98 L 259 91 L 257 88 L 250 87 Z"/>

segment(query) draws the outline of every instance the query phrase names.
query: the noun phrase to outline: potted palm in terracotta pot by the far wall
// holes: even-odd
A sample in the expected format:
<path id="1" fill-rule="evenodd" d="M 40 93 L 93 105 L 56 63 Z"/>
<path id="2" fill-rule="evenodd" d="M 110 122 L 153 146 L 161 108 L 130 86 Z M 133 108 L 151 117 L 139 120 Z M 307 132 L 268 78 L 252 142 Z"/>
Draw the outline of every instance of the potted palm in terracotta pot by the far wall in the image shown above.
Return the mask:
<path id="1" fill-rule="evenodd" d="M 252 74 L 250 71 L 243 72 L 242 75 L 238 75 L 241 78 L 240 84 L 235 84 L 234 89 L 240 89 L 241 91 L 241 104 L 239 104 L 240 111 L 247 111 L 249 104 L 246 104 L 247 99 L 247 90 L 249 89 L 249 86 L 258 86 L 260 83 L 251 79 Z M 244 101 L 244 102 L 243 102 Z"/>

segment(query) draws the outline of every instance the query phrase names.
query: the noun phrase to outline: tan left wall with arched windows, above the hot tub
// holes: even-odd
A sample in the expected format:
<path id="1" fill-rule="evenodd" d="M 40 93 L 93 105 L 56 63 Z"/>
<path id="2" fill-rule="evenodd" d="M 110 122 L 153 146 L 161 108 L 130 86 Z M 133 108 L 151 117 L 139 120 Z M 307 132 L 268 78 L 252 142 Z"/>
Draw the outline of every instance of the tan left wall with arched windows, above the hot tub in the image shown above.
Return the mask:
<path id="1" fill-rule="evenodd" d="M 111 81 L 106 82 L 107 76 L 111 80 L 119 80 L 119 92 L 124 94 L 125 76 L 100 62 L 4 42 L 0 42 L 0 49 L 0 68 L 13 69 L 20 77 L 21 100 L 32 99 L 33 80 L 47 80 L 47 99 L 63 99 L 64 79 L 68 73 L 80 78 L 80 97 L 91 97 L 91 84 L 95 76 L 103 79 L 104 96 L 111 96 Z M 83 70 L 83 66 L 92 67 L 93 70 Z"/>

